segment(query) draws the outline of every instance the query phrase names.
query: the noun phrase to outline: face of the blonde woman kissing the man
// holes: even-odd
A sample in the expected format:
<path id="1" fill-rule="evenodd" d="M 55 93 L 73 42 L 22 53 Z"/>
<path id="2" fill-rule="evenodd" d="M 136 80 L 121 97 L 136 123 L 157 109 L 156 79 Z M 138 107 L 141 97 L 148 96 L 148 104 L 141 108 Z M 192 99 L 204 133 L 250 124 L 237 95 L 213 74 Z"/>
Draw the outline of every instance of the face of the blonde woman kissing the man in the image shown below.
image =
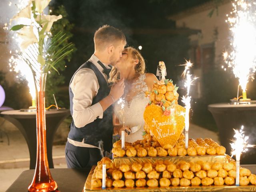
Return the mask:
<path id="1" fill-rule="evenodd" d="M 120 71 L 127 71 L 134 68 L 132 61 L 134 59 L 129 54 L 128 50 L 124 49 L 122 52 L 122 58 L 116 63 L 116 68 Z"/>

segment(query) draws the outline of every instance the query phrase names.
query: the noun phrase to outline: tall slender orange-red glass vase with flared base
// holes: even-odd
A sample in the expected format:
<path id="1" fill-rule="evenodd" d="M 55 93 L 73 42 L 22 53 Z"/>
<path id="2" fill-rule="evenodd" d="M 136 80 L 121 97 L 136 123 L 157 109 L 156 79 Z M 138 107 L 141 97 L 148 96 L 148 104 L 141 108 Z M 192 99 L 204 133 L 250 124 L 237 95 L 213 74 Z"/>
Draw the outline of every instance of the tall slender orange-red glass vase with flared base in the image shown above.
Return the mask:
<path id="1" fill-rule="evenodd" d="M 45 125 L 45 86 L 46 73 L 40 75 L 36 81 L 36 134 L 37 152 L 36 169 L 32 183 L 28 187 L 30 192 L 50 192 L 57 189 L 57 183 L 53 180 L 47 158 L 46 149 L 46 125 Z"/>

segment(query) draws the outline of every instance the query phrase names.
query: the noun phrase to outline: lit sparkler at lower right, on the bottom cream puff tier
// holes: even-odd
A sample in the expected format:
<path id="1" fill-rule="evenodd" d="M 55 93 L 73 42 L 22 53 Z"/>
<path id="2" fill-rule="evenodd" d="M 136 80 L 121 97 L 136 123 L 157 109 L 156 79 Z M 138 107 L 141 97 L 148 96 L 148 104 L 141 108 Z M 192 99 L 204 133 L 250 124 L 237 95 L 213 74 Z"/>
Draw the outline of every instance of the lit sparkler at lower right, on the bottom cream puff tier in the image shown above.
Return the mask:
<path id="1" fill-rule="evenodd" d="M 240 177 L 240 156 L 242 152 L 248 151 L 248 147 L 254 147 L 254 145 L 248 144 L 248 136 L 244 135 L 244 126 L 241 126 L 240 130 L 235 130 L 233 143 L 230 143 L 232 148 L 232 156 L 236 155 L 236 185 L 239 186 L 239 177 Z M 232 157 L 231 156 L 231 157 Z"/>

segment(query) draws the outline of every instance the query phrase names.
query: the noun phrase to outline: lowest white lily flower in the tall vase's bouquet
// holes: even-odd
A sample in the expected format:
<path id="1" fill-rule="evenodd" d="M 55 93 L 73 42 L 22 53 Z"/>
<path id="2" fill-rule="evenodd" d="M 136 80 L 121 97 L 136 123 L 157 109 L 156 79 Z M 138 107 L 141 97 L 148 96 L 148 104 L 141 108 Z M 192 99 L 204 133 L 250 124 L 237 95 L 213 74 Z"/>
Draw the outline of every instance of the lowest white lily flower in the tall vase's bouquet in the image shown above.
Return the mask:
<path id="1" fill-rule="evenodd" d="M 38 43 L 36 35 L 33 32 L 33 26 L 24 26 L 19 32 L 18 36 L 23 39 L 20 44 L 20 49 L 24 51 L 28 46 L 33 43 Z"/>

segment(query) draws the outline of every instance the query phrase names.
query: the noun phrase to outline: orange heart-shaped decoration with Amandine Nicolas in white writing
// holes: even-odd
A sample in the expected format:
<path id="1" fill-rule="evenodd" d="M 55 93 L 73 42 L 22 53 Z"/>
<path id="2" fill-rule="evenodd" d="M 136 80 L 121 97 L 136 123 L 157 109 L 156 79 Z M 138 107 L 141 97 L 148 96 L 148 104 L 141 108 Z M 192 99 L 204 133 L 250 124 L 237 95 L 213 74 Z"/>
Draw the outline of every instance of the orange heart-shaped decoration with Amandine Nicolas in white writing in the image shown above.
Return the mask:
<path id="1" fill-rule="evenodd" d="M 174 146 L 185 127 L 184 113 L 184 107 L 174 104 L 170 115 L 166 116 L 162 107 L 152 104 L 146 107 L 144 120 L 162 147 L 166 144 Z"/>

